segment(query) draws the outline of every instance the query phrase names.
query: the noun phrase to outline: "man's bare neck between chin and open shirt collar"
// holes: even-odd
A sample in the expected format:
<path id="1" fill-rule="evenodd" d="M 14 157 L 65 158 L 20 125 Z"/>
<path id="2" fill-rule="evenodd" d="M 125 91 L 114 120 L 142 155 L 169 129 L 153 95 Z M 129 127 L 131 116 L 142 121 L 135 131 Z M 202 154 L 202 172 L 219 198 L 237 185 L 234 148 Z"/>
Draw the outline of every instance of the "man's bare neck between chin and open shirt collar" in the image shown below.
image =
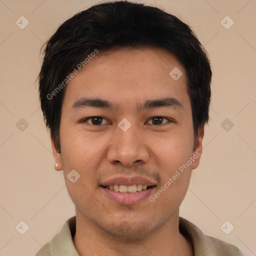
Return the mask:
<path id="1" fill-rule="evenodd" d="M 142 238 L 124 239 L 106 233 L 76 210 L 73 242 L 80 256 L 193 256 L 192 244 L 179 232 L 178 212 Z"/>

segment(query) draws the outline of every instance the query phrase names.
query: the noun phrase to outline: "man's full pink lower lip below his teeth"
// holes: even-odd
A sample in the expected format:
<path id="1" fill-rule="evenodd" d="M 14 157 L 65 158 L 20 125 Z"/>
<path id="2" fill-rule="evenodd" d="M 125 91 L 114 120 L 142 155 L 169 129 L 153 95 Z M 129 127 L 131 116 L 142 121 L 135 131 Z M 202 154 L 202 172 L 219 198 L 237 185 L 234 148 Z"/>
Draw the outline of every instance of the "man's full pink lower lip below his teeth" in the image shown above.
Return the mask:
<path id="1" fill-rule="evenodd" d="M 154 186 L 134 193 L 121 193 L 101 186 L 106 195 L 118 204 L 136 204 L 150 196 Z"/>

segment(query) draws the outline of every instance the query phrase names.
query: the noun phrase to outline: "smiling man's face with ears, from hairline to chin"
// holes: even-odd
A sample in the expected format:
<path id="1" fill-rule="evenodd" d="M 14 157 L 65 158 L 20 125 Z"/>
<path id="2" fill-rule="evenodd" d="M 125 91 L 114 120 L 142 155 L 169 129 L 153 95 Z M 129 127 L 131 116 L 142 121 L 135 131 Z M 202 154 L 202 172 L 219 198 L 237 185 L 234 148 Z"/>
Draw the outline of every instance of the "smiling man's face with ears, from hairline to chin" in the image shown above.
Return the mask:
<path id="1" fill-rule="evenodd" d="M 194 139 L 185 70 L 170 53 L 99 51 L 66 87 L 59 132 L 53 153 L 77 218 L 128 238 L 178 214 L 203 129 Z"/>

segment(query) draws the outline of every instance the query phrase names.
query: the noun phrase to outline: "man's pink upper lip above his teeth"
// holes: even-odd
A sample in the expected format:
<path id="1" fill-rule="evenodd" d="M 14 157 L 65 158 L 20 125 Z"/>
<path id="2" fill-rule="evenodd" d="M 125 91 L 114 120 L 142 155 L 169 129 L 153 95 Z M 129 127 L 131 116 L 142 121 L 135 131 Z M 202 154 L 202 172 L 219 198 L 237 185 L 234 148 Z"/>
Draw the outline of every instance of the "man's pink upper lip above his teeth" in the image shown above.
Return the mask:
<path id="1" fill-rule="evenodd" d="M 139 177 L 139 176 L 131 176 L 131 177 L 124 177 L 124 176 L 118 176 L 118 177 L 112 177 L 109 178 L 101 183 L 102 186 L 109 186 L 109 185 L 135 185 L 135 184 L 141 184 L 141 185 L 147 185 L 147 186 L 154 186 L 156 185 L 156 182 L 149 180 L 147 178 Z"/>

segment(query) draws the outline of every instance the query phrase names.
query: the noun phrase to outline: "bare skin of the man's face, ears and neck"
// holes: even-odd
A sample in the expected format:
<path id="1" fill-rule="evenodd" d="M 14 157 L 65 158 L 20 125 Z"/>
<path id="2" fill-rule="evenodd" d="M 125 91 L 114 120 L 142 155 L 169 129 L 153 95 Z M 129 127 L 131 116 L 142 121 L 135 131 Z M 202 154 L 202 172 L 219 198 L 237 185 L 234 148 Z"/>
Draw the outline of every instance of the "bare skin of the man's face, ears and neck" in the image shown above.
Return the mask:
<path id="1" fill-rule="evenodd" d="M 183 72 L 176 81 L 169 75 L 174 67 Z M 166 95 L 182 107 L 137 112 L 136 103 Z M 118 107 L 73 109 L 81 97 L 107 99 Z M 90 116 L 101 116 L 102 124 L 81 122 Z M 154 116 L 172 121 L 163 119 L 159 126 Z M 118 127 L 123 118 L 131 123 L 125 132 Z M 172 54 L 158 48 L 99 51 L 66 87 L 59 132 L 61 152 L 53 139 L 52 150 L 75 204 L 73 242 L 79 255 L 193 255 L 191 243 L 179 233 L 178 213 L 199 156 L 154 202 L 117 204 L 100 187 L 117 175 L 138 175 L 156 182 L 153 195 L 202 151 L 203 127 L 194 138 L 185 69 Z M 72 169 L 80 174 L 74 183 L 67 178 Z"/>

